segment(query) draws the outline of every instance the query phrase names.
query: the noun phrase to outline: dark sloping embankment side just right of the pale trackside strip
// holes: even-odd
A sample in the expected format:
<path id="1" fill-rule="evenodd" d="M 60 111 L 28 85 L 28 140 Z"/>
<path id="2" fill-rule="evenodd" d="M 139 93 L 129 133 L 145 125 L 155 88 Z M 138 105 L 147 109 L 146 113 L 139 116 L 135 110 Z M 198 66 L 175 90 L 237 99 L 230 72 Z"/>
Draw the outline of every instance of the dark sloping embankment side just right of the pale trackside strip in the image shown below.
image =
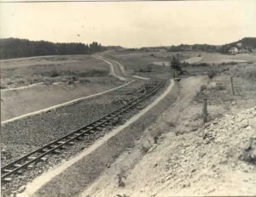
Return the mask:
<path id="1" fill-rule="evenodd" d="M 85 156 L 73 166 L 68 167 L 66 171 L 54 177 L 49 183 L 46 183 L 34 196 L 79 195 L 108 168 L 108 165 L 113 163 L 124 149 L 131 147 L 137 138 L 140 138 L 144 129 L 150 126 L 161 112 L 176 100 L 177 86 L 172 91 L 174 93 L 169 93 L 145 115 L 108 139 L 108 143 L 102 144 L 90 155 Z"/>

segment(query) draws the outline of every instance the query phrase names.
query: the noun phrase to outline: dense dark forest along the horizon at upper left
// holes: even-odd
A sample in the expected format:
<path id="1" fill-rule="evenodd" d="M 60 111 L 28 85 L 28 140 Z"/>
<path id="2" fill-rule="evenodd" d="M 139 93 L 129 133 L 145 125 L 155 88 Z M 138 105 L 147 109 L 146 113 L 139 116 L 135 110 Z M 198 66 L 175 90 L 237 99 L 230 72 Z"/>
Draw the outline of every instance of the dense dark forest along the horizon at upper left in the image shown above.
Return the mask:
<path id="1" fill-rule="evenodd" d="M 0 59 L 24 58 L 42 55 L 92 54 L 107 50 L 98 42 L 89 45 L 83 43 L 53 43 L 29 41 L 18 38 L 0 39 Z"/>

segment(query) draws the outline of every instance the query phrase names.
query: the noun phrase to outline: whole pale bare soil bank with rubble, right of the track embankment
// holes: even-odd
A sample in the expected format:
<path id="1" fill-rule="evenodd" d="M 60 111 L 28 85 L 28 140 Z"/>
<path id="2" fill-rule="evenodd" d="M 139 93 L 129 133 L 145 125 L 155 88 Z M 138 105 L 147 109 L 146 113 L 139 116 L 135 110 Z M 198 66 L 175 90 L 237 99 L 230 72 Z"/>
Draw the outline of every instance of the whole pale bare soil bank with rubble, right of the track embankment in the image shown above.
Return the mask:
<path id="1" fill-rule="evenodd" d="M 212 87 L 226 78 L 182 79 L 177 102 L 80 196 L 256 194 L 255 160 L 249 159 L 255 158 L 256 98 L 250 98 L 252 91 L 245 87 L 246 98 L 230 95 L 227 83 L 224 88 Z M 201 116 L 203 97 L 209 102 L 206 126 Z M 161 135 L 154 144 L 157 132 Z"/>

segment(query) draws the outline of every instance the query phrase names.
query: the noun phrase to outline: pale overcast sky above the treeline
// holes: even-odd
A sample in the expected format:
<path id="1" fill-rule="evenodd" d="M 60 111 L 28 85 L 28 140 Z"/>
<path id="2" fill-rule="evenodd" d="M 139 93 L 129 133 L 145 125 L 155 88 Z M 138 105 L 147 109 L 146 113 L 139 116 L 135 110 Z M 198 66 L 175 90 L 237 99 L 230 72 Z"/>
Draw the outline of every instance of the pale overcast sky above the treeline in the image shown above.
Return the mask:
<path id="1" fill-rule="evenodd" d="M 256 1 L 1 3 L 0 36 L 127 48 L 224 44 L 256 37 L 255 10 Z"/>

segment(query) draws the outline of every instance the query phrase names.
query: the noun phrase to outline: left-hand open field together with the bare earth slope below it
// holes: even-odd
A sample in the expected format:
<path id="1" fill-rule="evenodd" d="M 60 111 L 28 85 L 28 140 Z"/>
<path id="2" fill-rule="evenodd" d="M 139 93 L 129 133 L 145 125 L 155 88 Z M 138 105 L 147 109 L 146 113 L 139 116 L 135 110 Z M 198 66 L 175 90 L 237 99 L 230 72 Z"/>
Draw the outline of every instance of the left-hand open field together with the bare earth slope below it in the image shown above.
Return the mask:
<path id="1" fill-rule="evenodd" d="M 1 121 L 125 84 L 88 55 L 6 60 L 1 72 Z"/>

